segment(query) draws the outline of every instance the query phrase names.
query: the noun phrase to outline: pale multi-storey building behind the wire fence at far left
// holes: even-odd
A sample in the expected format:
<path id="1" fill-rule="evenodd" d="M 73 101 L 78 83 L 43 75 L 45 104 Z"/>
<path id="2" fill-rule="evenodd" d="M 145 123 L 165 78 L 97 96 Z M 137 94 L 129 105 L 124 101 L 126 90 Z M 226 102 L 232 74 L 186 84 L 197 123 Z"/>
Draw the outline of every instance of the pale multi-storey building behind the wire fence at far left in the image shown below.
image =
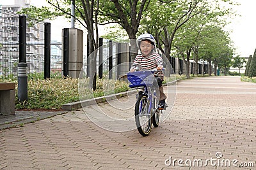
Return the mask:
<path id="1" fill-rule="evenodd" d="M 12 2 L 11 2 L 12 3 Z M 14 4 L 3 5 L 0 15 L 0 41 L 2 44 L 1 53 L 3 60 L 8 60 L 8 69 L 13 69 L 19 56 L 19 15 L 17 11 L 30 6 L 30 0 L 15 0 Z M 44 24 L 36 23 L 29 25 L 27 18 L 26 47 L 28 72 L 44 71 L 44 46 L 34 45 L 36 41 L 44 41 Z M 30 42 L 30 43 L 29 43 Z M 6 65 L 6 64 L 5 64 Z"/>

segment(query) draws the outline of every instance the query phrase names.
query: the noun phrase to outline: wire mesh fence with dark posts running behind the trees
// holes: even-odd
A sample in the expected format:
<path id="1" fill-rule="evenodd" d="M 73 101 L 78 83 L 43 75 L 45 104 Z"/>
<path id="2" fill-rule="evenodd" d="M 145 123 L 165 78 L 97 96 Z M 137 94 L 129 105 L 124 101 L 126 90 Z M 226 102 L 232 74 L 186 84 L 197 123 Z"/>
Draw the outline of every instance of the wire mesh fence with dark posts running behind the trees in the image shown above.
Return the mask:
<path id="1" fill-rule="evenodd" d="M 18 62 L 20 62 L 20 53 L 25 53 L 24 60 L 28 64 L 28 73 L 42 73 L 47 78 L 50 72 L 60 72 L 63 70 L 63 61 L 61 60 L 61 50 L 65 50 L 64 46 L 58 42 L 51 41 L 51 25 L 46 22 L 36 22 L 30 18 L 26 18 L 25 45 L 20 47 L 22 40 L 20 28 L 20 18 L 22 16 L 11 11 L 0 9 L 0 78 L 1 79 L 17 79 Z M 24 17 L 24 16 L 23 16 Z M 123 63 L 123 56 L 120 56 L 120 43 L 116 43 L 109 39 L 99 40 L 101 51 L 97 57 L 97 67 L 99 68 L 99 77 L 108 73 L 109 78 L 118 78 L 122 74 L 122 68 L 118 64 Z M 51 46 L 51 50 L 50 50 Z M 89 44 L 87 44 L 87 47 Z M 125 47 L 125 49 L 127 49 Z M 129 48 L 128 48 L 129 49 Z M 85 52 L 86 50 L 84 50 Z M 50 53 L 51 52 L 51 53 Z M 126 51 L 127 52 L 127 51 Z M 49 57 L 51 55 L 51 57 Z M 127 55 L 125 55 L 127 57 Z M 130 62 L 131 59 L 125 59 Z M 101 63 L 99 65 L 99 63 Z M 51 64 L 51 65 L 50 65 Z M 176 57 L 170 57 L 170 64 L 173 67 L 173 73 L 184 73 L 184 64 L 182 60 Z M 193 64 L 191 65 L 193 67 Z M 88 54 L 83 58 L 83 72 L 89 75 Z M 123 66 L 122 66 L 123 67 Z M 125 66 L 125 69 L 127 66 Z M 192 70 L 192 69 L 191 69 Z M 204 71 L 207 70 L 205 67 Z M 128 70 L 127 70 L 128 71 Z M 202 66 L 199 65 L 199 73 L 202 72 Z"/>

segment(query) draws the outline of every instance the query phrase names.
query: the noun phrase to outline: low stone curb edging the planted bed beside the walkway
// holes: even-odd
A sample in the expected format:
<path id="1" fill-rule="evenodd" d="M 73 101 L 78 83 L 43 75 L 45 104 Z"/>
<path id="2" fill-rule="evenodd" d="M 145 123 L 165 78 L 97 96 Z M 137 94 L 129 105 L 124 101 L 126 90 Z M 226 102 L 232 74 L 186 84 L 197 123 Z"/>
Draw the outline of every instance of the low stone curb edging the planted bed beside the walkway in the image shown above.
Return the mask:
<path id="1" fill-rule="evenodd" d="M 180 80 L 182 80 L 182 79 L 177 79 L 177 80 L 173 80 L 173 81 L 168 82 L 168 83 L 164 83 L 163 86 L 175 85 Z M 90 106 L 90 105 L 95 104 L 95 103 L 103 103 L 103 102 L 110 101 L 110 100 L 113 100 L 113 99 L 117 99 L 117 98 L 120 98 L 120 97 L 128 96 L 129 94 L 134 94 L 136 92 L 138 92 L 138 90 L 130 90 L 128 92 L 120 92 L 120 93 L 111 94 L 111 95 L 108 95 L 108 96 L 95 97 L 93 99 L 86 99 L 86 100 L 83 100 L 83 101 L 76 101 L 76 102 L 72 102 L 72 103 L 67 103 L 67 104 L 62 105 L 62 109 L 63 110 L 68 110 L 68 111 L 77 110 L 79 108 L 82 108 L 82 106 L 84 107 L 84 106 Z"/>

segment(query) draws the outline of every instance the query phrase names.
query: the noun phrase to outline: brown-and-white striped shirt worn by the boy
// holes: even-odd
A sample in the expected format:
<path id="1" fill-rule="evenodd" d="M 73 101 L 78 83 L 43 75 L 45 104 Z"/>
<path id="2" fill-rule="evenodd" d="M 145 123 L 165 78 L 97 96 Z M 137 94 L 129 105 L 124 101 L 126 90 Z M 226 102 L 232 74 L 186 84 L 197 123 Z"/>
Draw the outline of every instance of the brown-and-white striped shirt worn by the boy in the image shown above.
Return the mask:
<path id="1" fill-rule="evenodd" d="M 152 52 L 148 57 L 139 54 L 134 59 L 131 69 L 139 67 L 139 71 L 156 69 L 157 66 L 163 66 L 163 59 L 156 52 Z M 159 76 L 163 76 L 162 72 L 159 72 Z"/>

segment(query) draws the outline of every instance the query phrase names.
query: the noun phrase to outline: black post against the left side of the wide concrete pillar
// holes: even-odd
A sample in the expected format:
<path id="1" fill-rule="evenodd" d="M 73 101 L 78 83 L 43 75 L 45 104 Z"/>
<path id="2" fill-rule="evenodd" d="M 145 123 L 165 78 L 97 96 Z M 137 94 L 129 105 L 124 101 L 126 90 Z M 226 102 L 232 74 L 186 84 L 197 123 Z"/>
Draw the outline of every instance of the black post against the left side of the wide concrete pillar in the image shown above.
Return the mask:
<path id="1" fill-rule="evenodd" d="M 69 30 L 63 31 L 63 76 L 68 76 Z"/>

